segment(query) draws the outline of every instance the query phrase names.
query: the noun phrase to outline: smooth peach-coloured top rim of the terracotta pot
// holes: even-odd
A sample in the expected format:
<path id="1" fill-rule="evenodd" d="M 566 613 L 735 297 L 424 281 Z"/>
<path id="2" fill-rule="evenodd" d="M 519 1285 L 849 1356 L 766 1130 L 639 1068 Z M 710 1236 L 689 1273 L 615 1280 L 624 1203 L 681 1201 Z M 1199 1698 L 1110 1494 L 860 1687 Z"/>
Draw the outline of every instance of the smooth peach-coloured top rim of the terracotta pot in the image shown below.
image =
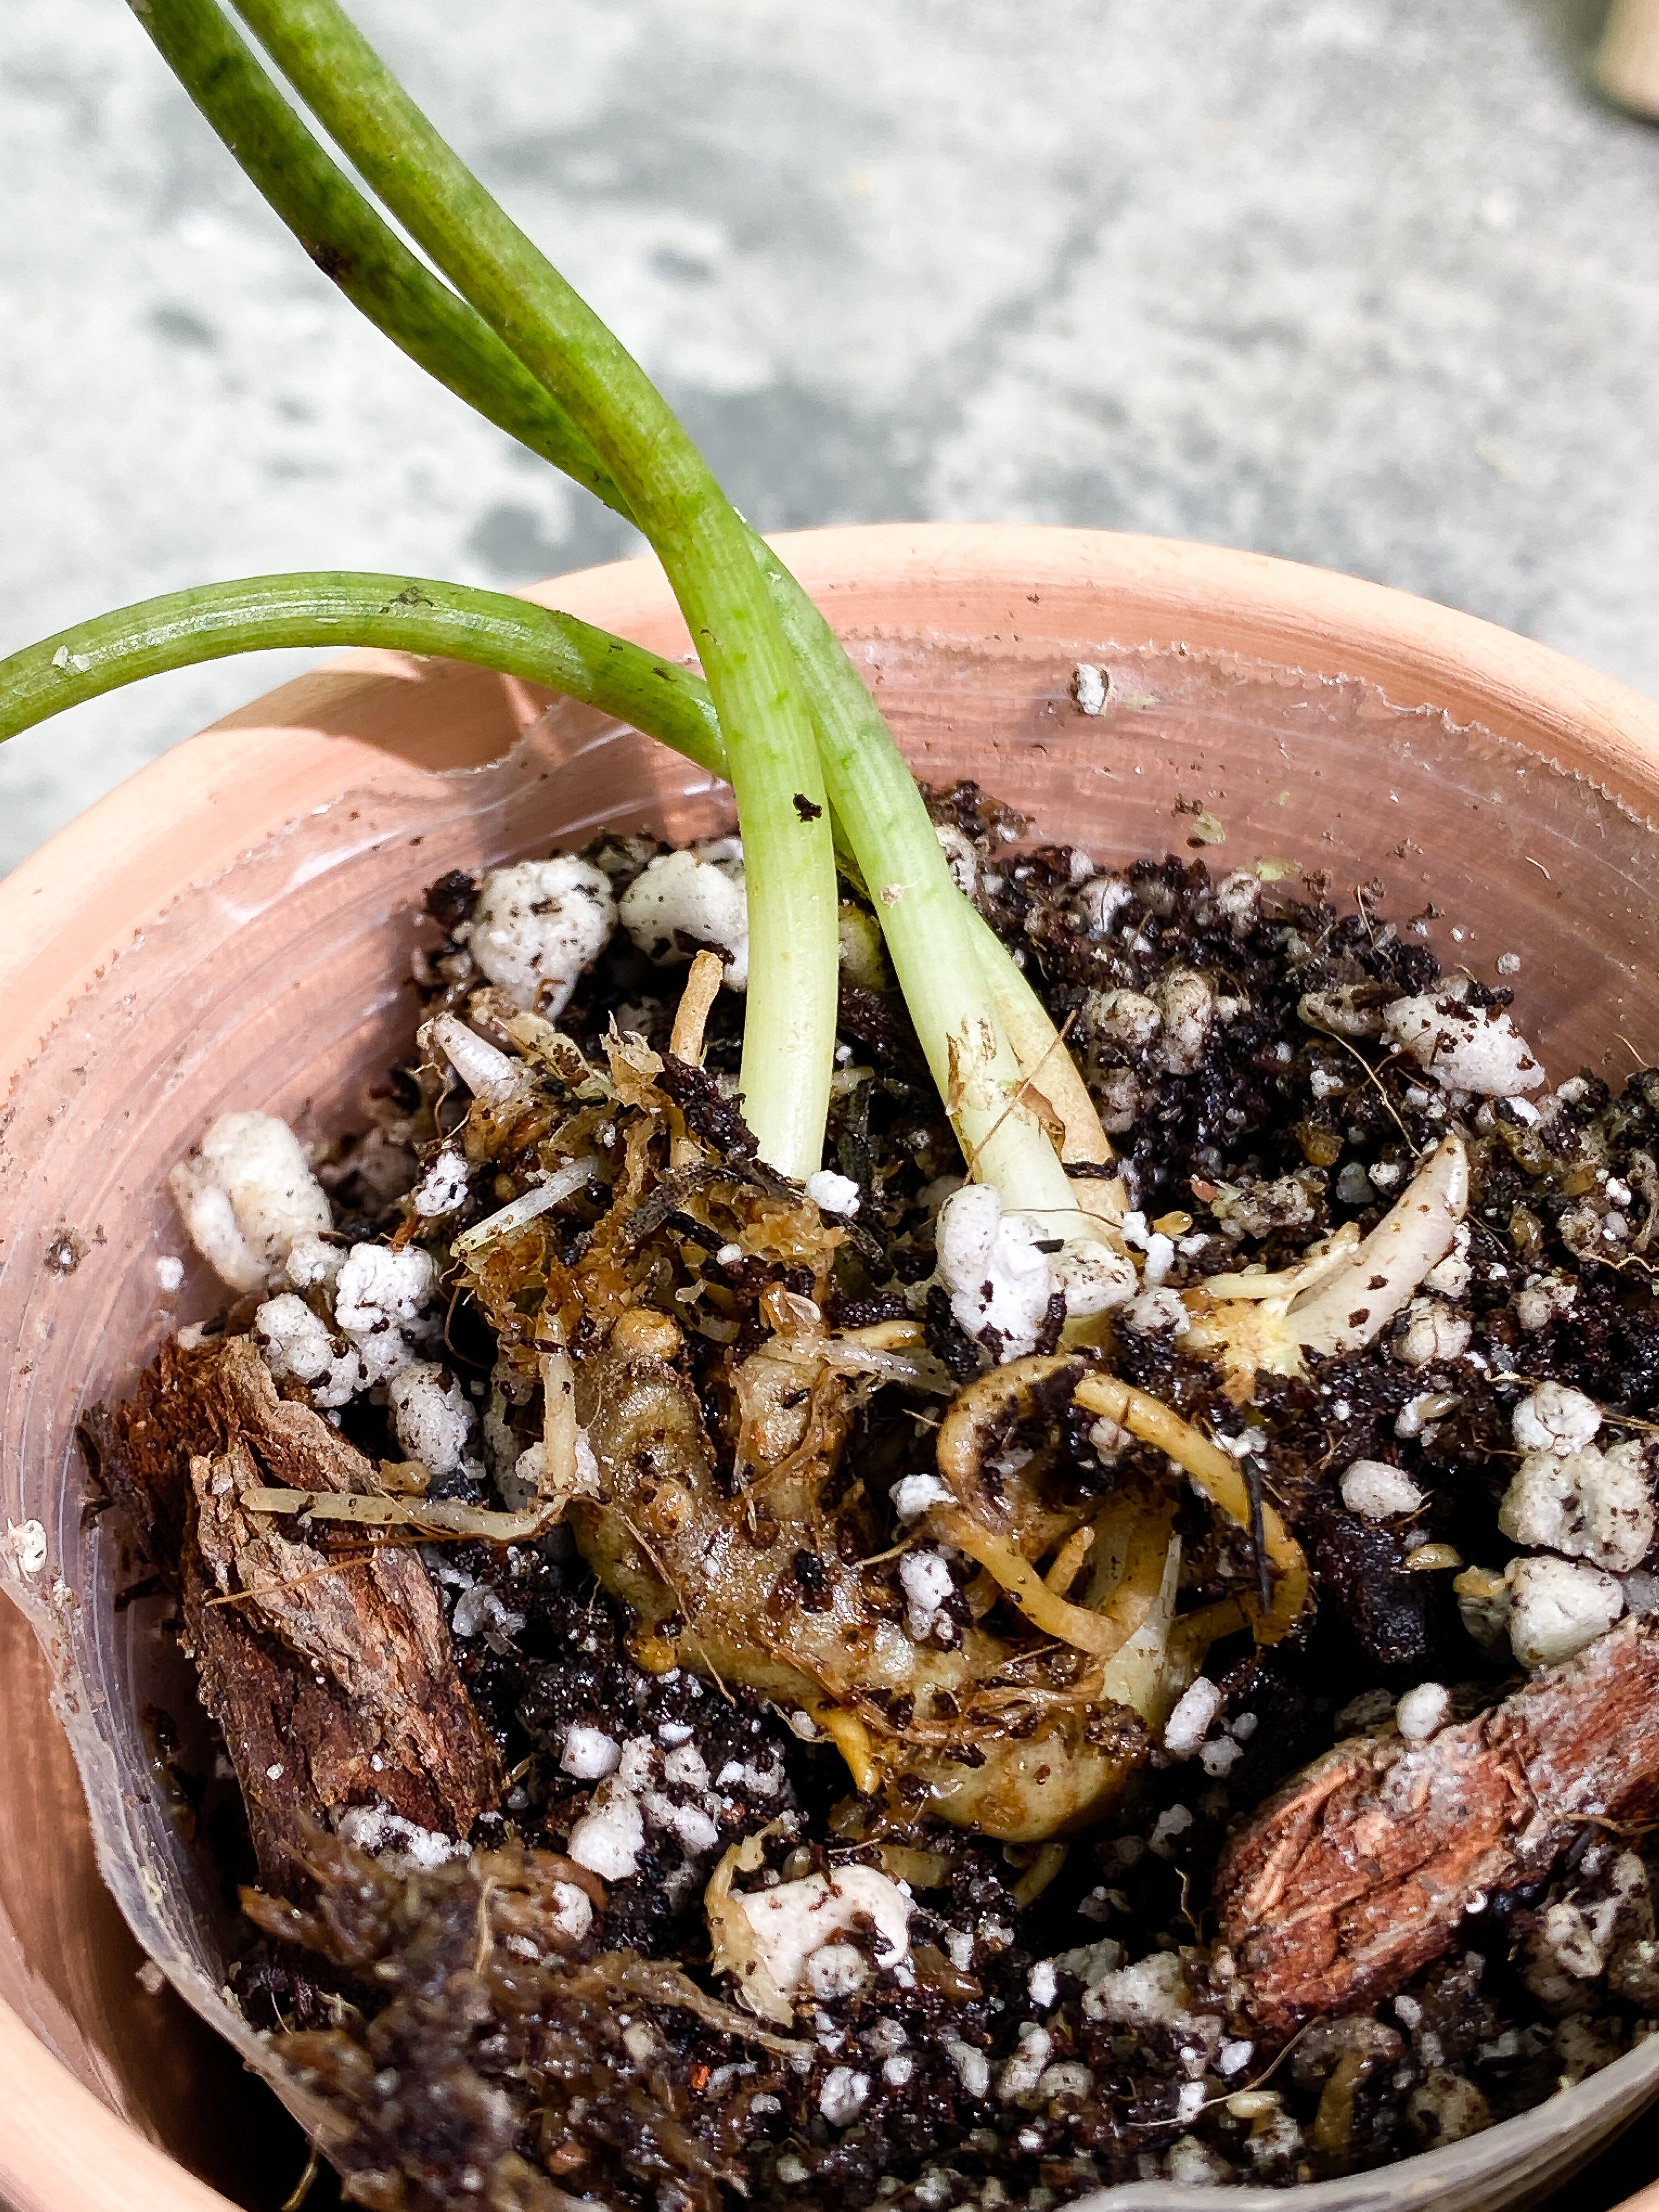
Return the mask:
<path id="1" fill-rule="evenodd" d="M 1102 648 L 1186 644 L 1321 679 L 1367 679 L 1389 703 L 1478 721 L 1641 816 L 1644 785 L 1659 781 L 1657 701 L 1551 646 L 1360 577 L 1225 546 L 1042 524 L 856 524 L 790 531 L 772 544 L 838 628 L 984 635 L 982 622 L 969 628 L 964 617 L 971 586 L 980 604 L 987 588 L 1002 595 L 998 630 L 1018 637 L 1033 599 L 1046 602 L 1048 624 L 1075 602 L 1075 635 Z M 688 650 L 650 557 L 575 571 L 522 597 L 666 655 Z M 1102 608 L 1110 608 L 1108 628 Z M 261 830 L 283 794 L 299 816 L 312 810 L 319 785 L 385 776 L 396 752 L 341 734 L 343 714 L 369 690 L 442 681 L 447 672 L 396 653 L 341 655 L 137 770 L 0 883 L 0 1082 L 33 1057 L 133 929 L 170 902 L 177 863 L 168 856 L 190 852 L 195 880 L 234 865 L 248 843 L 237 792 L 250 770 Z M 504 692 L 520 728 L 535 719 L 535 692 L 515 684 Z M 86 885 L 100 887 L 97 900 L 86 898 Z M 232 2212 L 86 2088 L 2 2000 L 0 2077 L 11 2088 L 0 2146 L 11 2212 L 126 2212 L 146 2201 Z M 1659 2212 L 1659 2181 L 1624 2212 Z"/>

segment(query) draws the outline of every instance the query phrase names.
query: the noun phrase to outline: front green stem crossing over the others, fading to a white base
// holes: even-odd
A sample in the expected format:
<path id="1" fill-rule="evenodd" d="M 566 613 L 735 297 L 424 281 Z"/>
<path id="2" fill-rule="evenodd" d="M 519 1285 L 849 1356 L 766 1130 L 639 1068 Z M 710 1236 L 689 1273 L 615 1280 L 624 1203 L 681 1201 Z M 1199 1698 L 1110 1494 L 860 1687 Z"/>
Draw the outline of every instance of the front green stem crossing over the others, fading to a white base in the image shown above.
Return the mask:
<path id="1" fill-rule="evenodd" d="M 794 657 L 748 531 L 639 363 L 502 212 L 334 0 L 239 13 L 365 181 L 615 476 L 657 549 L 719 708 L 743 825 L 741 1084 L 772 1166 L 823 1157 L 836 1031 L 836 865 Z"/>

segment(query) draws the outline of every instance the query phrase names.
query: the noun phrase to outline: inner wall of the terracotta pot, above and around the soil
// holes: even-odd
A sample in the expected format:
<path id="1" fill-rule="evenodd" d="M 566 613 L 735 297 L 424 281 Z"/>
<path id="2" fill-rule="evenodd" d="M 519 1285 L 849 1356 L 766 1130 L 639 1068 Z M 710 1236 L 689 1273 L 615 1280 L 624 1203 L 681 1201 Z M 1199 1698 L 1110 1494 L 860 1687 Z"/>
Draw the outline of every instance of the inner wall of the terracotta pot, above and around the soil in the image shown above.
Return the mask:
<path id="1" fill-rule="evenodd" d="M 1097 860 L 1274 863 L 1292 896 L 1310 878 L 1338 907 L 1358 900 L 1420 931 L 1447 969 L 1482 982 L 1498 980 L 1498 956 L 1517 956 L 1506 973 L 1517 1022 L 1553 1079 L 1590 1066 L 1617 1082 L 1659 1057 L 1655 832 L 1511 739 L 1455 728 L 1431 703 L 1391 706 L 1356 679 L 1124 646 L 1108 630 L 984 641 L 883 628 L 856 650 L 916 772 L 973 776 L 1026 812 L 1033 836 Z M 1095 717 L 1071 697 L 1079 659 L 1110 677 Z M 232 1106 L 281 1113 L 307 1137 L 361 1126 L 365 1084 L 409 1040 L 403 978 L 427 883 L 580 845 L 602 823 L 686 838 L 730 818 L 723 787 L 568 701 L 546 706 L 507 757 L 451 770 L 436 763 L 478 759 L 471 739 L 447 739 L 467 714 L 515 721 L 495 679 L 445 670 L 400 681 L 394 703 L 394 717 L 385 697 L 374 706 L 396 732 L 380 757 L 338 748 L 310 810 L 252 803 L 232 874 L 195 880 L 179 830 L 177 896 L 122 918 L 131 945 L 20 1075 L 0 1148 L 0 1515 L 40 1520 L 49 1540 L 27 1588 L 44 1655 L 0 1606 L 0 1995 L 115 2110 L 243 2203 L 285 2194 L 296 2139 L 281 2157 L 250 2154 L 250 2090 L 230 2053 L 175 1995 L 135 1984 L 139 1953 L 100 1880 L 82 1783 L 46 1703 L 51 1679 L 126 1920 L 190 2002 L 217 2013 L 226 1900 L 155 1756 L 159 1710 L 179 1723 L 188 1765 L 188 1679 L 159 1599 L 117 1610 L 142 1566 L 88 1498 L 77 1413 L 119 1394 L 170 1327 L 217 1305 L 164 1190 L 201 1126 Z M 283 695 L 268 708 L 265 721 L 281 719 Z M 1659 792 L 1635 796 L 1646 812 Z M 184 1285 L 166 1294 L 157 1261 L 175 1254 Z M 1613 2079 L 1621 2068 L 1628 2086 Z M 1655 2066 L 1632 2053 L 1599 2088 L 1573 2093 L 1577 2132 L 1544 2115 L 1511 2124 L 1533 2130 L 1528 2179 L 1498 2161 L 1500 2197 L 1559 2181 L 1586 2130 L 1595 2139 L 1628 2117 L 1650 2079 Z M 1564 2124 L 1573 2097 L 1548 2112 Z M 1400 2179 L 1312 2194 L 1398 2201 Z M 1436 2185 L 1442 2201 L 1449 2181 Z M 1186 2199 L 1168 2185 L 1130 2194 Z"/>

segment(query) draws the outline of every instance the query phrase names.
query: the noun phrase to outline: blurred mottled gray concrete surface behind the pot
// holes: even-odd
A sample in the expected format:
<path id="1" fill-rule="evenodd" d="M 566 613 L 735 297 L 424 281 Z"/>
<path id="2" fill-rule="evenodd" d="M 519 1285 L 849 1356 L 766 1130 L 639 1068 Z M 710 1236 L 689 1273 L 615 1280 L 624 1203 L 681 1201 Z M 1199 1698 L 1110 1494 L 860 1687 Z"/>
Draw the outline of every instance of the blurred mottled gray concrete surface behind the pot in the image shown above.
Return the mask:
<path id="1" fill-rule="evenodd" d="M 1659 692 L 1659 131 L 1599 0 L 358 0 L 763 526 L 1325 562 Z M 122 0 L 0 9 L 0 650 L 628 533 L 354 321 Z M 292 659 L 0 757 L 0 865 Z"/>

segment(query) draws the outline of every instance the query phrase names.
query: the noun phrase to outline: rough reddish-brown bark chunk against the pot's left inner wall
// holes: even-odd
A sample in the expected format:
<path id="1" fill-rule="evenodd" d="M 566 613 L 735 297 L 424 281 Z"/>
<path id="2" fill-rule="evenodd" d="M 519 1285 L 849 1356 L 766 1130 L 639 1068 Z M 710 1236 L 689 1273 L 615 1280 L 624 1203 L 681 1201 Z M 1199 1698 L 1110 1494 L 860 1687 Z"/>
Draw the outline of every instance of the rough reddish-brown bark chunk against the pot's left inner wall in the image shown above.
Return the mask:
<path id="1" fill-rule="evenodd" d="M 332 1559 L 239 1502 L 263 1486 L 374 1491 L 372 1464 L 276 1396 L 248 1338 L 226 1343 L 212 1394 L 226 1449 L 190 1458 L 184 1621 L 261 1878 L 290 1882 L 307 1823 L 332 1827 L 347 1805 L 465 1838 L 504 1783 L 420 1555 L 378 1544 Z"/>

